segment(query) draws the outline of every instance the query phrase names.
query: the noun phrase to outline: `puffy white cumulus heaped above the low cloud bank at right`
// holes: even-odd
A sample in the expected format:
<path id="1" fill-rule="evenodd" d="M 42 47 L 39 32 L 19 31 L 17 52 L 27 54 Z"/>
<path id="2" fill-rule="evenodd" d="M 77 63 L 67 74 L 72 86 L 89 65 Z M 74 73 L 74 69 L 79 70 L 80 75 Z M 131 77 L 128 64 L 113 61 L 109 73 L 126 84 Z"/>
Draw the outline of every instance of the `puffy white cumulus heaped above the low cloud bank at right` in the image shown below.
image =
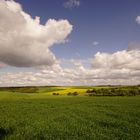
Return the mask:
<path id="1" fill-rule="evenodd" d="M 140 51 L 118 51 L 113 54 L 98 52 L 93 61 L 94 68 L 139 69 Z"/>

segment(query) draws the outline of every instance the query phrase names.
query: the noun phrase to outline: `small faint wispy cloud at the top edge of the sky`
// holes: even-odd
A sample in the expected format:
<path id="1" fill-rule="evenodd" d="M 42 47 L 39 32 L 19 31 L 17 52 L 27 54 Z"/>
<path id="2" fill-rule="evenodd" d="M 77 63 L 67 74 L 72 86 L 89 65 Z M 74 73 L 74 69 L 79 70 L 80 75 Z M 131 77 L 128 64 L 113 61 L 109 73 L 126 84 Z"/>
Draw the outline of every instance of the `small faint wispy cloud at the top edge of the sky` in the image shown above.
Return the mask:
<path id="1" fill-rule="evenodd" d="M 80 6 L 80 0 L 68 0 L 64 3 L 65 8 L 74 8 Z"/>

